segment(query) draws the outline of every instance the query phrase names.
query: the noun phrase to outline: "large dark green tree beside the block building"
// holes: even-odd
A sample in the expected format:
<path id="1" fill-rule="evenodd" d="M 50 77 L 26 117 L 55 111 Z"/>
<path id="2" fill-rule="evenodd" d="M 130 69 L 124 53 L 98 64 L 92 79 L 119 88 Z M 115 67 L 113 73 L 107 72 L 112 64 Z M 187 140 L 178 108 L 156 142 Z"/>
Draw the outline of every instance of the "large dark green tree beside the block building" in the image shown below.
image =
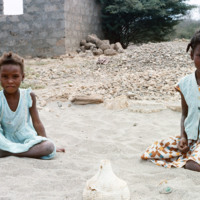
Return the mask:
<path id="1" fill-rule="evenodd" d="M 194 6 L 186 0 L 98 0 L 104 35 L 111 42 L 163 41 Z"/>

